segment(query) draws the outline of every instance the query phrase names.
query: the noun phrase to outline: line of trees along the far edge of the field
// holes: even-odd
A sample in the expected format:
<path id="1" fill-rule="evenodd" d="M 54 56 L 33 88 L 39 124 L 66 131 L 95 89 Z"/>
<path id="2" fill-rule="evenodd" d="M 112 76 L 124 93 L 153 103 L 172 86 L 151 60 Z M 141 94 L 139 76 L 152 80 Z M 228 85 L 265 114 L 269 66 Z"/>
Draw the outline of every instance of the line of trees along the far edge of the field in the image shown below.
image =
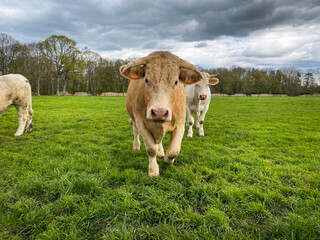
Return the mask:
<path id="1" fill-rule="evenodd" d="M 36 95 L 126 92 L 129 81 L 119 74 L 119 68 L 131 60 L 109 60 L 87 47 L 80 50 L 66 36 L 52 35 L 38 43 L 21 44 L 0 33 L 0 75 L 24 75 Z M 220 82 L 211 89 L 215 93 L 289 96 L 320 93 L 313 73 L 302 73 L 296 68 L 198 68 L 219 73 Z"/>

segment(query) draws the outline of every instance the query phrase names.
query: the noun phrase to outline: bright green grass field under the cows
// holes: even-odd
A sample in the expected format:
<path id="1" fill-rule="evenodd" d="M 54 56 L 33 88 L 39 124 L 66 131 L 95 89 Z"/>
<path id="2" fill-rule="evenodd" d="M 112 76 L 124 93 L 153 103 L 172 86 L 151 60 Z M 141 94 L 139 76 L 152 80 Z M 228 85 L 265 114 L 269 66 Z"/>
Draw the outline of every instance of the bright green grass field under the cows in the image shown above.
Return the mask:
<path id="1" fill-rule="evenodd" d="M 214 98 L 160 178 L 124 97 L 33 109 L 0 119 L 0 239 L 320 239 L 320 98 Z"/>

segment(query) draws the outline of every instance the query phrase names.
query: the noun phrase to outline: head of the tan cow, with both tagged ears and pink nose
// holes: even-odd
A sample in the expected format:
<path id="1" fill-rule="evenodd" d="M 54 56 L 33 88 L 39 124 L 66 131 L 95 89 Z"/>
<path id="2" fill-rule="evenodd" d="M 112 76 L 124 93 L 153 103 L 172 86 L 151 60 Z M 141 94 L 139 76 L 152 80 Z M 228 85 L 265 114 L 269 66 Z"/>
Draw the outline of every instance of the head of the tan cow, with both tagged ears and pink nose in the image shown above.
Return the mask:
<path id="1" fill-rule="evenodd" d="M 171 121 L 172 99 L 178 88 L 202 78 L 195 66 L 166 51 L 153 52 L 121 66 L 120 73 L 129 80 L 144 81 L 146 118 L 155 122 Z"/>

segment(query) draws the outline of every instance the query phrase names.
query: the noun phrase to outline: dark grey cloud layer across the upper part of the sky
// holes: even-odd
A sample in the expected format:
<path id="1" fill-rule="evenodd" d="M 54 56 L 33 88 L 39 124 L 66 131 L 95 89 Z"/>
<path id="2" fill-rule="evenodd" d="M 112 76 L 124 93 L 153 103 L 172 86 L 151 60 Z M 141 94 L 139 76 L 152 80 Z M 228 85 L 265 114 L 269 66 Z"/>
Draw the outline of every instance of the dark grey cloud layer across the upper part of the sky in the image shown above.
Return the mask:
<path id="1" fill-rule="evenodd" d="M 8 1 L 19 8 L 18 1 Z M 37 7 L 30 1 L 28 9 Z M 317 0 L 137 0 L 137 1 L 70 1 L 47 0 L 46 12 L 17 20 L 0 28 L 46 38 L 64 34 L 97 51 L 121 48 L 170 48 L 161 41 L 205 41 L 219 36 L 247 36 L 252 31 L 281 24 L 319 23 L 320 1 Z M 22 11 L 26 6 L 21 5 Z M 193 21 L 195 27 L 186 27 Z M 198 46 L 198 47 L 201 47 Z"/>

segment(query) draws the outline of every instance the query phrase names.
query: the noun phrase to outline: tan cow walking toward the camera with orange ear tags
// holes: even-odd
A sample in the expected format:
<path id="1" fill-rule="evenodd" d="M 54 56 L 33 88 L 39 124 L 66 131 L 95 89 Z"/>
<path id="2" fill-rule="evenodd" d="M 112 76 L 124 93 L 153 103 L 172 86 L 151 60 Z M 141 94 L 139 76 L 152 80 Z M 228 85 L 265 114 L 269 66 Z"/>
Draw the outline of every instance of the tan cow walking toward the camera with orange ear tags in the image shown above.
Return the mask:
<path id="1" fill-rule="evenodd" d="M 134 135 L 133 149 L 140 149 L 139 135 L 149 157 L 149 177 L 159 176 L 157 157 L 172 164 L 180 152 L 185 129 L 184 84 L 201 80 L 200 71 L 167 51 L 157 51 L 120 67 L 129 79 L 126 108 Z M 162 139 L 170 133 L 166 153 Z"/>

